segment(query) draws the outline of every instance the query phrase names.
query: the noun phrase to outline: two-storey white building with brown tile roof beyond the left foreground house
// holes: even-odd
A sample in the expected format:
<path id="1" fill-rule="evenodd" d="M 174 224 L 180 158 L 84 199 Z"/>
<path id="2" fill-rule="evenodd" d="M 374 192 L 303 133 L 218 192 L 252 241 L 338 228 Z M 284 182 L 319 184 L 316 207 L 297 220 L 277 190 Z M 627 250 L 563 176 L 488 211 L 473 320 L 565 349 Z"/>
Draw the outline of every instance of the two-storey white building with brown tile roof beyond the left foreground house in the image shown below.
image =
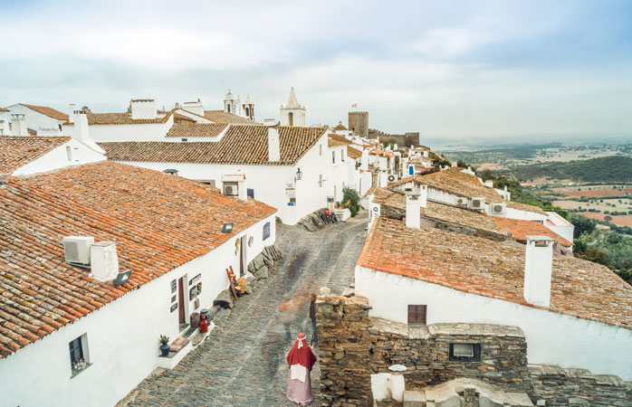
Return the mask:
<path id="1" fill-rule="evenodd" d="M 279 208 L 282 222 L 294 224 L 326 207 L 333 193 L 330 185 L 341 184 L 334 177 L 339 173 L 332 172 L 327 135 L 326 128 L 180 123 L 163 141 L 117 141 L 100 147 L 110 160 L 175 170 L 224 193 L 226 175 L 245 175 L 247 194 Z"/>

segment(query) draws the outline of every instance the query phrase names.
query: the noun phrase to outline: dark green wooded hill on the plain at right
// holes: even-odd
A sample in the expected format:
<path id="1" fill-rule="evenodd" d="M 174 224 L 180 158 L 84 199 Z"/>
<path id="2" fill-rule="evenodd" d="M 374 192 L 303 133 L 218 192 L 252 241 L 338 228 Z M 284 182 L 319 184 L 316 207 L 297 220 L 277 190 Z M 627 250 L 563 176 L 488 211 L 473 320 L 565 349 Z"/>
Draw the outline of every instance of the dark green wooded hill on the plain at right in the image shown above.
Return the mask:
<path id="1" fill-rule="evenodd" d="M 632 158 L 604 156 L 568 163 L 531 164 L 514 166 L 504 174 L 520 181 L 537 178 L 570 179 L 581 183 L 629 183 L 632 182 Z"/>

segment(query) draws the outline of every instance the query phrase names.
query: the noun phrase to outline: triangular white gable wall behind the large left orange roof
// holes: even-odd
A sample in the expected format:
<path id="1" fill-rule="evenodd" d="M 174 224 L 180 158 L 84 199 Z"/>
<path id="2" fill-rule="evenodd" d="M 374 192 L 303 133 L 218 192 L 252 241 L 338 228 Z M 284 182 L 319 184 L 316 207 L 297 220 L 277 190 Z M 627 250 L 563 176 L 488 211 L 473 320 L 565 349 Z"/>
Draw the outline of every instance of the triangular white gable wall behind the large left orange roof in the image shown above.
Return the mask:
<path id="1" fill-rule="evenodd" d="M 68 159 L 68 152 L 66 147 L 71 147 L 71 159 Z M 53 171 L 54 169 L 64 168 L 67 166 L 81 166 L 88 163 L 96 163 L 98 161 L 106 160 L 106 156 L 98 153 L 85 146 L 75 139 L 71 139 L 68 143 L 64 143 L 62 146 L 54 148 L 44 156 L 31 161 L 26 166 L 21 166 L 16 169 L 13 175 L 32 175 L 38 173 L 44 173 Z"/>

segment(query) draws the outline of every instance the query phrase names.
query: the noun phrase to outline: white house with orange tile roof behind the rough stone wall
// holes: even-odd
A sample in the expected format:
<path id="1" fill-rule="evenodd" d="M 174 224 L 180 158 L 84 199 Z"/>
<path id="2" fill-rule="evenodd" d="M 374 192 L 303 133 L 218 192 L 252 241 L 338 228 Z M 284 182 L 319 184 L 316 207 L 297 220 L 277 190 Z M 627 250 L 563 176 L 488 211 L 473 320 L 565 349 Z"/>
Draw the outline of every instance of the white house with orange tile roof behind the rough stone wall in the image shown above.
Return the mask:
<path id="1" fill-rule="evenodd" d="M 417 211 L 407 221 L 419 219 L 414 200 L 407 209 Z M 420 306 L 426 325 L 520 327 L 529 364 L 632 379 L 632 288 L 604 266 L 553 254 L 547 237 L 517 246 L 378 217 L 355 289 L 371 317 L 406 324 Z"/>

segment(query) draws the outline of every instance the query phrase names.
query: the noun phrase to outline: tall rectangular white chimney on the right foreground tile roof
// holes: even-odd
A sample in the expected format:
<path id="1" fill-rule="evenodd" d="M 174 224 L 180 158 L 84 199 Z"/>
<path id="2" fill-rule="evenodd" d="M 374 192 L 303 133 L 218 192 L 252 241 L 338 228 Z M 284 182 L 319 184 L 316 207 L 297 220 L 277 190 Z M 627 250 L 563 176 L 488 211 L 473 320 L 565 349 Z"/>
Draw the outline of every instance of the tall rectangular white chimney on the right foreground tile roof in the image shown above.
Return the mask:
<path id="1" fill-rule="evenodd" d="M 551 305 L 553 240 L 548 236 L 527 236 L 524 256 L 524 299 L 532 305 Z"/>

